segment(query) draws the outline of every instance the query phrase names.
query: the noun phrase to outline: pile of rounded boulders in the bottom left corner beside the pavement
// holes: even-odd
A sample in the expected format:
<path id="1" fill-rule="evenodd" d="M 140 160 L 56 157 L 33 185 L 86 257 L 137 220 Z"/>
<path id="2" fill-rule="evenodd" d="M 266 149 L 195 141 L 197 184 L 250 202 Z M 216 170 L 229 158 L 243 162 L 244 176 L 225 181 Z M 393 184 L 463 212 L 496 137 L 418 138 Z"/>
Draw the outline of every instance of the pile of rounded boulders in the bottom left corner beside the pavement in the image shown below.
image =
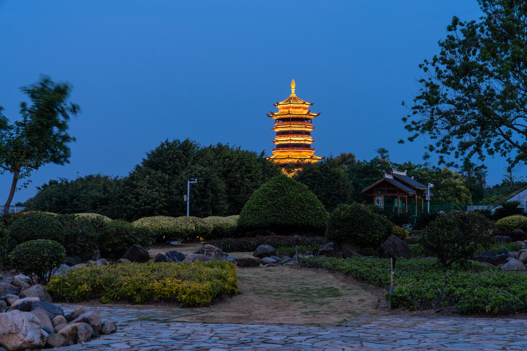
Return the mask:
<path id="1" fill-rule="evenodd" d="M 24 275 L 0 280 L 0 349 L 71 346 L 117 330 L 112 320 L 82 306 L 66 315 L 42 285 L 29 281 Z"/>

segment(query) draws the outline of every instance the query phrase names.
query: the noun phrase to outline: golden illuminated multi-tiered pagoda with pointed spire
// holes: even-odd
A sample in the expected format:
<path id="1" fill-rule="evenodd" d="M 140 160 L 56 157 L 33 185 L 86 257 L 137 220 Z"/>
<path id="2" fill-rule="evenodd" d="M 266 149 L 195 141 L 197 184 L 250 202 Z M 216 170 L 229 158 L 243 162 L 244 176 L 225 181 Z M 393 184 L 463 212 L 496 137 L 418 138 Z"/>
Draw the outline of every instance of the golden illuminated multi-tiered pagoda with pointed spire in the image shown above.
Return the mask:
<path id="1" fill-rule="evenodd" d="M 315 149 L 311 148 L 311 143 L 315 142 L 311 138 L 311 131 L 315 129 L 311 120 L 320 114 L 309 111 L 311 105 L 313 104 L 296 96 L 293 79 L 291 95 L 274 105 L 278 107 L 278 112 L 267 115 L 275 120 L 275 127 L 271 128 L 276 132 L 273 141 L 276 147 L 272 149 L 270 157 L 272 162 L 285 167 L 290 164 L 315 163 L 322 159 L 315 156 Z"/>

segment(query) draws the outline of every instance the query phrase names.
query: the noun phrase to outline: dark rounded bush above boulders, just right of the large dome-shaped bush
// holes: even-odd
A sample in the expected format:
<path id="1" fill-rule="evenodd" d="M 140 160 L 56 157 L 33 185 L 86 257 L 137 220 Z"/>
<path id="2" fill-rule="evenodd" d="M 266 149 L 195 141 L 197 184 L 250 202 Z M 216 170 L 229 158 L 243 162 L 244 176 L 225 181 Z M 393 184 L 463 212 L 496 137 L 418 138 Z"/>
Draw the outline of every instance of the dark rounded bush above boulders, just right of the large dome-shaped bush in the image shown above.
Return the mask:
<path id="1" fill-rule="evenodd" d="M 340 205 L 329 216 L 326 238 L 353 242 L 362 248 L 378 248 L 390 235 L 392 223 L 363 204 Z"/>

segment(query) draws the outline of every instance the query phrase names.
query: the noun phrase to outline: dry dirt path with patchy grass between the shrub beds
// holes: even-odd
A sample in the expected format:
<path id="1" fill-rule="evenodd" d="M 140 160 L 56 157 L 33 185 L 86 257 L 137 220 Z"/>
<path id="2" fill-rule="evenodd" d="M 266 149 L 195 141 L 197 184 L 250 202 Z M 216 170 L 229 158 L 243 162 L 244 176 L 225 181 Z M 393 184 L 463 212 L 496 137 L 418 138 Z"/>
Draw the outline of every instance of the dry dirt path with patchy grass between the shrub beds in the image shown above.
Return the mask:
<path id="1" fill-rule="evenodd" d="M 359 316 L 387 315 L 378 308 L 378 296 L 329 273 L 255 267 L 239 268 L 238 277 L 238 295 L 174 322 L 341 325 Z"/>

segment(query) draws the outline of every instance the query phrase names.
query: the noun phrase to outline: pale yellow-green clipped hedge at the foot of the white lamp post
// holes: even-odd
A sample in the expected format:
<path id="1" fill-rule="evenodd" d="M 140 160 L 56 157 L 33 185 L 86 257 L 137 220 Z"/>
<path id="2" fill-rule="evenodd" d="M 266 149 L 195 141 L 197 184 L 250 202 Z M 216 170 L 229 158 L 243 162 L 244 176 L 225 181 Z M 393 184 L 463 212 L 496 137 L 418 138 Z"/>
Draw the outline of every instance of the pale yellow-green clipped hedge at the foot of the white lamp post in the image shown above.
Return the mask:
<path id="1" fill-rule="evenodd" d="M 145 227 L 156 234 L 156 240 L 180 242 L 207 237 L 212 232 L 212 224 L 198 217 L 144 217 L 132 223 L 136 227 Z"/>

